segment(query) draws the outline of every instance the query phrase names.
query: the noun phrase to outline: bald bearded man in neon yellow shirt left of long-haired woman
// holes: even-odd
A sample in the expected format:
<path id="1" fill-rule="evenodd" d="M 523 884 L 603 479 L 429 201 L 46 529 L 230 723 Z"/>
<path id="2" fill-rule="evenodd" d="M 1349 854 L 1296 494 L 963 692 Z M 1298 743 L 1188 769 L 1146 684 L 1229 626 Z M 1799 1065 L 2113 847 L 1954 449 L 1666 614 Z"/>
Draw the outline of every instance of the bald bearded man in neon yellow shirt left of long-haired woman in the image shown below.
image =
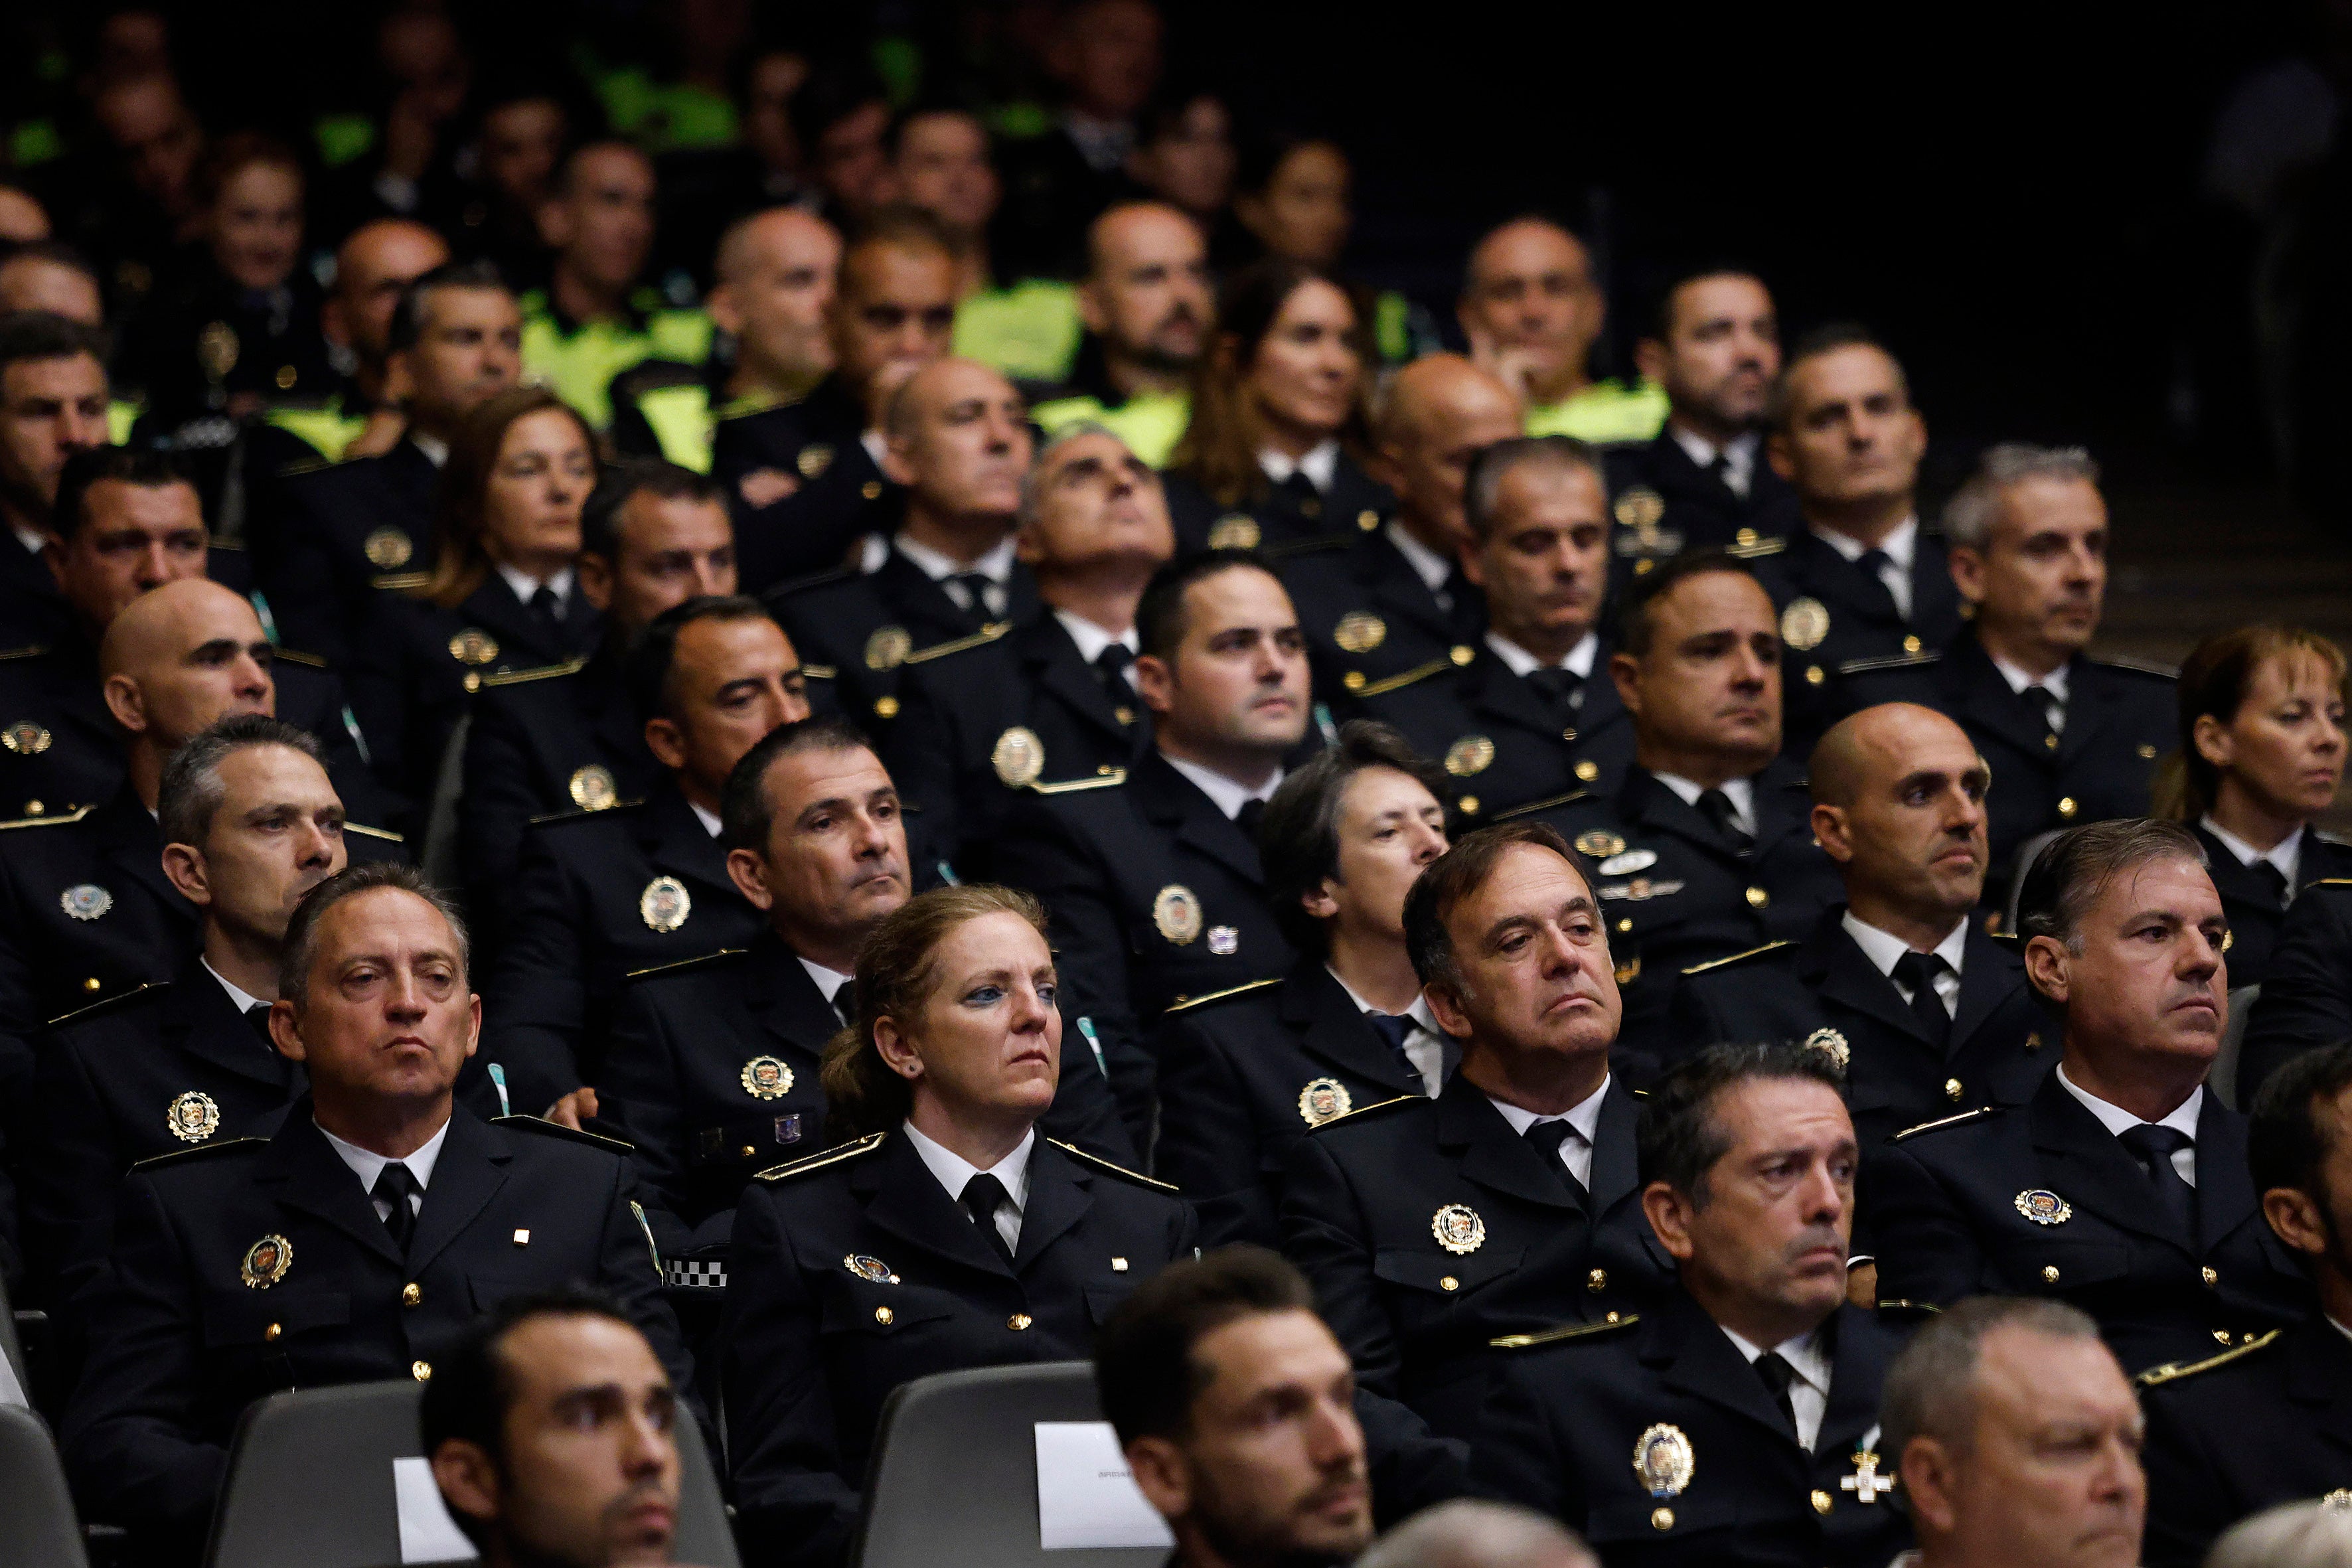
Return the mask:
<path id="1" fill-rule="evenodd" d="M 1164 202 L 1108 209 L 1087 230 L 1077 315 L 1087 324 L 1077 367 L 1033 409 L 1037 425 L 1051 435 L 1094 421 L 1167 468 L 1192 418 L 1192 367 L 1216 315 L 1200 226 Z"/>

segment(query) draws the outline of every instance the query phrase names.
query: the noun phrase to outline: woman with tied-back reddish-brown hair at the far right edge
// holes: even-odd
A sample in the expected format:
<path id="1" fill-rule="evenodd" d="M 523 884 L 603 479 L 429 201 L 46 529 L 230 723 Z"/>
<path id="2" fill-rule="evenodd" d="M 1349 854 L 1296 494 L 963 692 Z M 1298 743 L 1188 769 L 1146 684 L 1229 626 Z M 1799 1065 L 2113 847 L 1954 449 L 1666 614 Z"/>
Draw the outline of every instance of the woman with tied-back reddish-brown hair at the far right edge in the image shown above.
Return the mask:
<path id="1" fill-rule="evenodd" d="M 2180 665 L 2180 736 L 2157 813 L 2204 844 L 2230 917 L 2230 985 L 2256 985 L 2296 893 L 2352 875 L 2352 846 L 2312 827 L 2345 773 L 2343 649 L 2286 625 L 2206 637 Z"/>

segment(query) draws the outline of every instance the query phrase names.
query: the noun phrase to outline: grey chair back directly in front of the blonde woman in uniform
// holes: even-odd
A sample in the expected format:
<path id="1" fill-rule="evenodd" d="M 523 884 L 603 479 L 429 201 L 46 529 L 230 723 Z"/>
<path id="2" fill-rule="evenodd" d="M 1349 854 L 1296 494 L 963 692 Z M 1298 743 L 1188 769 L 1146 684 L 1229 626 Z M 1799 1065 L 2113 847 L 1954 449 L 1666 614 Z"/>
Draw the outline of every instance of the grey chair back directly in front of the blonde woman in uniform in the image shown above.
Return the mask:
<path id="1" fill-rule="evenodd" d="M 901 1385 L 882 1406 L 856 1568 L 1160 1568 L 1164 1547 L 1037 1544 L 1042 1420 L 1103 1420 L 1084 1361 L 983 1366 Z"/>

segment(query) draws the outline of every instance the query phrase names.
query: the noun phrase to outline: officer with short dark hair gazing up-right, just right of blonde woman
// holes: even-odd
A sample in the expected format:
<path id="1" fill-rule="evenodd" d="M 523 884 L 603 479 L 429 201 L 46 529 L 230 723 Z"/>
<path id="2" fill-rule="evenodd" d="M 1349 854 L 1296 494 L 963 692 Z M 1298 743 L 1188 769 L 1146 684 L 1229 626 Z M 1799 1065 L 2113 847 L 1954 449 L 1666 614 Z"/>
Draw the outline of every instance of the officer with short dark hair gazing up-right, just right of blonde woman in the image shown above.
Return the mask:
<path id="1" fill-rule="evenodd" d="M 1282 1246 L 1291 1147 L 1451 1074 L 1461 1046 L 1404 947 L 1404 889 L 1446 849 L 1442 790 L 1404 736 L 1357 719 L 1265 804 L 1265 896 L 1301 959 L 1279 980 L 1178 1001 L 1152 1048 L 1152 1168 L 1200 1206 L 1202 1246 Z"/>

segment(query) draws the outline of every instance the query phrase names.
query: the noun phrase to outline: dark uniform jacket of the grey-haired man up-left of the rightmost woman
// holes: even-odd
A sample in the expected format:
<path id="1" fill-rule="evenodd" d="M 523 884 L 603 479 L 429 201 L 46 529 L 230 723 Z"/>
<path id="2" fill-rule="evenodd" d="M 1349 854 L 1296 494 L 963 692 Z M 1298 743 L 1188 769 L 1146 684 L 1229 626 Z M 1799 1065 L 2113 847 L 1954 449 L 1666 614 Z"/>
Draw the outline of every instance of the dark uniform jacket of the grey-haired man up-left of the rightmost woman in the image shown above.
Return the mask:
<path id="1" fill-rule="evenodd" d="M 1973 630 L 1940 656 L 1844 665 L 1835 703 L 1839 715 L 1919 703 L 1969 731 L 1992 764 L 1987 903 L 2009 896 L 2018 849 L 2037 832 L 2147 816 L 2157 759 L 2180 743 L 2169 670 L 2077 654 L 2067 661 L 2065 733 L 2053 733 L 2039 703 L 2009 689 Z"/>

